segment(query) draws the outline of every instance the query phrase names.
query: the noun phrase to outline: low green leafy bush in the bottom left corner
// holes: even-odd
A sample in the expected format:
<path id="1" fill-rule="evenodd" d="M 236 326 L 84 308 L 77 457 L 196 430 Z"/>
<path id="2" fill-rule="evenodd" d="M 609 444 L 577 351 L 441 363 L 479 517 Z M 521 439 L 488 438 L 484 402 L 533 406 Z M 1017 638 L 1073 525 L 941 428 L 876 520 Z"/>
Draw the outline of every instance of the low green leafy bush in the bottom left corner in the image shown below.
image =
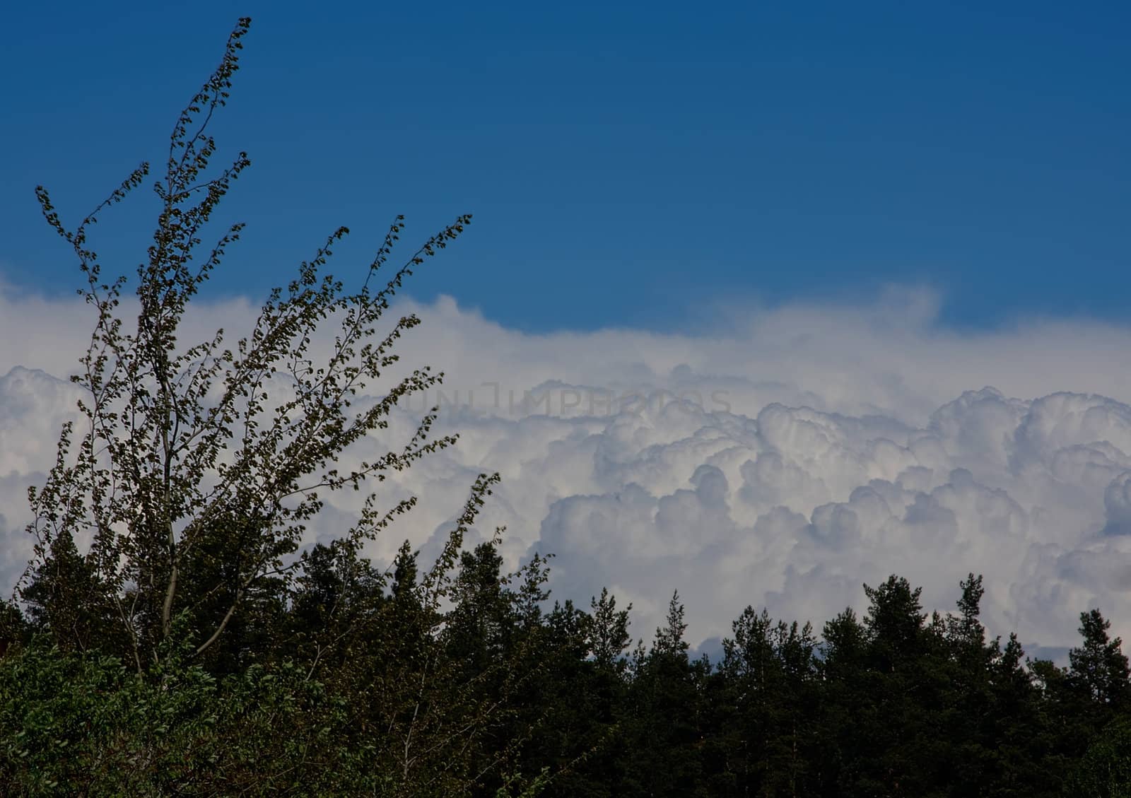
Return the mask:
<path id="1" fill-rule="evenodd" d="M 217 680 L 172 653 L 145 676 L 33 645 L 0 668 L 5 795 L 326 795 L 346 713 L 294 666 Z M 279 734 L 279 728 L 286 734 Z"/>

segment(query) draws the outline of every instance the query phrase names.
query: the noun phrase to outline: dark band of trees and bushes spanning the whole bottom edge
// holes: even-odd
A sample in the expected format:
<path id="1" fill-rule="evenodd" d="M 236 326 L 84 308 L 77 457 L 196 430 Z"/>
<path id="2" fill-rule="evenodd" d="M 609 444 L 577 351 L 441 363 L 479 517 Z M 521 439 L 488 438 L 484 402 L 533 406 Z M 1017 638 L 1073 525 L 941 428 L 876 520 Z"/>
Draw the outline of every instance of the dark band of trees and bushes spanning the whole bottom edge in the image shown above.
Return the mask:
<path id="1" fill-rule="evenodd" d="M 217 541 L 219 545 L 219 541 Z M 207 571 L 222 561 L 207 550 Z M 820 634 L 748 607 L 692 659 L 674 595 L 649 645 L 607 591 L 549 605 L 536 557 L 463 552 L 449 606 L 407 547 L 266 579 L 216 645 L 141 675 L 72 543 L 7 605 L 0 784 L 36 795 L 1123 796 L 1131 684 L 1098 609 L 1069 665 L 987 639 L 982 578 L 927 615 L 891 576 Z M 192 575 L 189 576 L 193 578 Z M 201 583 L 211 578 L 201 575 Z M 215 599 L 215 600 L 214 600 Z M 178 623 L 208 628 L 222 597 Z"/>

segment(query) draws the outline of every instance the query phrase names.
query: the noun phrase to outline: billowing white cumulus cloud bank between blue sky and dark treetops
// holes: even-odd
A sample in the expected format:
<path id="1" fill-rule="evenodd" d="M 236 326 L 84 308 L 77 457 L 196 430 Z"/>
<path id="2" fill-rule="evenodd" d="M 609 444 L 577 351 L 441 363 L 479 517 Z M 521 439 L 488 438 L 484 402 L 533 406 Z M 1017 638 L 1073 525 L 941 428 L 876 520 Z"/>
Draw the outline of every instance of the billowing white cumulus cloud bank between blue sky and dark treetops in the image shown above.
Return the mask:
<path id="1" fill-rule="evenodd" d="M 632 601 L 640 636 L 675 588 L 698 643 L 746 604 L 814 621 L 861 608 L 861 583 L 893 572 L 947 610 L 972 571 L 993 632 L 1071 645 L 1099 606 L 1131 636 L 1131 328 L 959 333 L 924 292 L 731 313 L 694 335 L 529 335 L 447 298 L 396 310 L 425 321 L 405 363 L 447 379 L 394 426 L 439 402 L 461 440 L 389 485 L 390 501 L 424 501 L 378 560 L 405 537 L 426 556 L 474 476 L 499 470 L 482 535 L 507 526 L 512 565 L 553 553 L 559 597 L 608 587 Z M 243 301 L 205 303 L 189 327 L 251 316 Z M 0 289 L 0 578 L 26 561 L 24 492 L 74 407 L 55 378 L 88 321 L 80 304 Z M 311 540 L 360 506 L 329 498 Z"/>

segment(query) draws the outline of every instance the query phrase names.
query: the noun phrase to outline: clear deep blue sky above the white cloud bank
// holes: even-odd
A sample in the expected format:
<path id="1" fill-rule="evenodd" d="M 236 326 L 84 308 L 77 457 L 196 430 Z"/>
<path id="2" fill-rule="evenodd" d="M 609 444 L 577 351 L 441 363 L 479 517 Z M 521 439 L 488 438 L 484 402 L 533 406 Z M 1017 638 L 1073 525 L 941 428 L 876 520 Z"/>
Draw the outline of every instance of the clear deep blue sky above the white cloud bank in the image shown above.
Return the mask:
<path id="1" fill-rule="evenodd" d="M 699 329 L 889 284 L 936 288 L 960 328 L 1128 315 L 1123 5 L 104 6 L 0 25 L 17 288 L 75 286 L 36 183 L 74 219 L 159 159 L 249 14 L 216 136 L 251 155 L 226 205 L 250 226 L 214 295 L 285 281 L 338 224 L 347 276 L 395 214 L 407 244 L 467 211 L 411 293 L 528 331 Z M 137 200 L 98 231 L 127 268 L 150 226 Z"/>

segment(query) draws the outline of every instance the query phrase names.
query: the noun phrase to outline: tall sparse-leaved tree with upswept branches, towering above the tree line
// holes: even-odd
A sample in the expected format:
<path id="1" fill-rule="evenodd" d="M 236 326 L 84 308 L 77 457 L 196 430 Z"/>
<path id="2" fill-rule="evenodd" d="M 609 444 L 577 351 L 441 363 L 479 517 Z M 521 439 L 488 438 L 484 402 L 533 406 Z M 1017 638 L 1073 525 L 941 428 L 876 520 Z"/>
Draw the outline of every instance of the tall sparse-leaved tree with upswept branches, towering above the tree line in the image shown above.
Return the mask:
<path id="1" fill-rule="evenodd" d="M 101 644 L 114 641 L 114 652 L 139 673 L 181 610 L 192 615 L 197 652 L 204 653 L 232 636 L 239 616 L 253 615 L 288 587 L 292 555 L 325 492 L 368 487 L 455 442 L 431 436 L 433 408 L 385 454 L 352 469 L 337 465 L 354 443 L 388 428 L 397 402 L 442 379 L 426 366 L 398 365 L 395 344 L 420 319 L 409 314 L 386 324 L 385 314 L 413 269 L 455 240 L 468 216 L 425 241 L 383 287 L 378 280 L 402 218 L 352 289 L 322 272 L 348 233 L 342 227 L 300 264 L 295 279 L 271 292 L 247 335 L 233 342 L 217 330 L 201 341 L 183 340 L 190 301 L 242 231 L 233 225 L 204 246 L 217 206 L 251 163 L 240 153 L 213 171 L 217 145 L 208 132 L 228 99 L 249 26 L 240 20 L 221 64 L 174 125 L 164 174 L 154 183 L 161 208 L 137 269 L 132 329 L 121 310 L 128 281 L 103 276 L 87 234 L 104 209 L 144 182 L 149 165 L 135 170 L 74 229 L 48 191 L 36 190 L 44 217 L 78 260 L 86 280 L 79 293 L 95 310 L 95 326 L 72 378 L 84 392 L 83 424 L 63 428 L 46 484 L 29 493 L 36 567 L 20 597 L 42 610 L 36 619 L 46 621 L 44 628 L 63 648 L 89 645 L 81 630 L 113 627 L 100 630 Z M 403 373 L 380 399 L 360 401 L 395 368 Z M 357 548 L 414 504 L 405 500 L 380 512 L 371 495 L 343 541 Z M 71 544 L 79 539 L 90 541 L 81 562 Z M 80 571 L 75 588 L 61 587 Z M 76 595 L 78 588 L 96 596 Z M 97 624 L 71 623 L 68 613 L 79 613 L 79 604 L 98 614 Z M 213 656 L 236 667 L 240 656 L 228 648 Z"/>

